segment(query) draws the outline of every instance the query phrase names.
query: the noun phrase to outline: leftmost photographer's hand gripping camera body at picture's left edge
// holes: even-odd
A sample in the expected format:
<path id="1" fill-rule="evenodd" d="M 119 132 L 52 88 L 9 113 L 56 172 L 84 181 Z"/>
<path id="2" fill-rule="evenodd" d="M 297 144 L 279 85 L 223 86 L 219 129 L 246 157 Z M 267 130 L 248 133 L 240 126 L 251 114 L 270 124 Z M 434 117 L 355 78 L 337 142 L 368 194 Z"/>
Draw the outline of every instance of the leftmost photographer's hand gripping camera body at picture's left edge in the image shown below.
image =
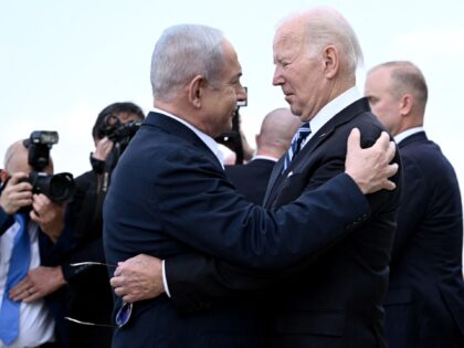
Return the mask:
<path id="1" fill-rule="evenodd" d="M 14 173 L 1 192 L 0 207 L 9 215 L 14 214 L 22 207 L 32 204 L 32 186 L 27 181 L 21 181 L 25 178 L 28 178 L 25 172 Z"/>

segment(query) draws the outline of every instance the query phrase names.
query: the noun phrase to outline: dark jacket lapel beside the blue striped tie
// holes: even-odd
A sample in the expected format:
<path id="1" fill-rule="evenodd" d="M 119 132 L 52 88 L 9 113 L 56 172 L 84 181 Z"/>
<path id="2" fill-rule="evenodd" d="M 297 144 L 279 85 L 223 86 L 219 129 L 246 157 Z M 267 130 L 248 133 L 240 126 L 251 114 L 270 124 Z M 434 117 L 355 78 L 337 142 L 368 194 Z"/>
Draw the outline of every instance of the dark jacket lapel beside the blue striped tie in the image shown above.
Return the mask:
<path id="1" fill-rule="evenodd" d="M 271 207 L 272 202 L 277 198 L 281 192 L 282 186 L 285 180 L 294 172 L 298 171 L 298 167 L 303 162 L 307 162 L 310 154 L 314 152 L 321 144 L 324 144 L 334 134 L 335 129 L 358 116 L 361 113 L 370 112 L 367 98 L 360 98 L 355 103 L 348 105 L 341 112 L 330 118 L 303 147 L 303 149 L 295 156 L 285 172 L 282 172 L 283 160 L 275 165 L 271 175 L 270 183 L 267 186 L 266 196 L 264 197 L 264 207 Z"/>

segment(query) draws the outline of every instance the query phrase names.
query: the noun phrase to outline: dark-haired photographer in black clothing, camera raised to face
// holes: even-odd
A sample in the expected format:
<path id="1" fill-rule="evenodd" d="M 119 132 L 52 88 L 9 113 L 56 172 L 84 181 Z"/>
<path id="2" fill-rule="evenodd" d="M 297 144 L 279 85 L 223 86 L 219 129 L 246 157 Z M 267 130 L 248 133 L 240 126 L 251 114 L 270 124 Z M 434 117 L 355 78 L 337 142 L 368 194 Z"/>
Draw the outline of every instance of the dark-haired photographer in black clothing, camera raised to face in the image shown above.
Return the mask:
<path id="1" fill-rule="evenodd" d="M 76 178 L 77 190 L 70 205 L 77 243 L 70 261 L 84 263 L 65 267 L 64 272 L 70 284 L 67 315 L 81 321 L 70 321 L 71 347 L 110 347 L 113 331 L 106 327 L 113 321 L 108 272 L 105 266 L 92 263 L 105 263 L 102 207 L 112 171 L 144 119 L 136 104 L 114 103 L 98 114 L 92 129 L 95 141 L 92 170 Z"/>

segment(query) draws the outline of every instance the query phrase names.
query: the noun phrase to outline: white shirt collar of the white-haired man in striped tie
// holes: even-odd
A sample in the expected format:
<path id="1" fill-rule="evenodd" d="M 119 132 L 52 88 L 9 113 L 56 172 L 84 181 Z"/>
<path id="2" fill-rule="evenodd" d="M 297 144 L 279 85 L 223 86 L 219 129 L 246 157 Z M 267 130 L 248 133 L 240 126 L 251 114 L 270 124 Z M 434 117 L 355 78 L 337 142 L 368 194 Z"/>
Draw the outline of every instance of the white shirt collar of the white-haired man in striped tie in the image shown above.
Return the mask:
<path id="1" fill-rule="evenodd" d="M 305 139 L 303 146 L 335 115 L 346 108 L 348 105 L 361 98 L 358 87 L 354 86 L 325 105 L 317 114 L 309 120 L 310 134 Z"/>

